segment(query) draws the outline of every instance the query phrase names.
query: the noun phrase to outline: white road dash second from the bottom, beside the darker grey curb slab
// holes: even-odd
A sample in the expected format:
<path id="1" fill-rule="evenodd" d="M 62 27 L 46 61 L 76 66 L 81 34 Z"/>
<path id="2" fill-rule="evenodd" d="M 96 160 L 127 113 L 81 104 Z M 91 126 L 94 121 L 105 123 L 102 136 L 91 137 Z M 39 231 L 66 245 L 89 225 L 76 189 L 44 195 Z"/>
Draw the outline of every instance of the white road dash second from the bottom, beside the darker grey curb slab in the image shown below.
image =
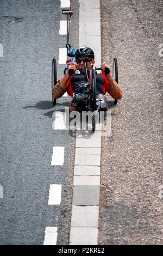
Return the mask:
<path id="1" fill-rule="evenodd" d="M 48 205 L 60 204 L 61 202 L 61 184 L 51 184 L 49 189 Z"/>

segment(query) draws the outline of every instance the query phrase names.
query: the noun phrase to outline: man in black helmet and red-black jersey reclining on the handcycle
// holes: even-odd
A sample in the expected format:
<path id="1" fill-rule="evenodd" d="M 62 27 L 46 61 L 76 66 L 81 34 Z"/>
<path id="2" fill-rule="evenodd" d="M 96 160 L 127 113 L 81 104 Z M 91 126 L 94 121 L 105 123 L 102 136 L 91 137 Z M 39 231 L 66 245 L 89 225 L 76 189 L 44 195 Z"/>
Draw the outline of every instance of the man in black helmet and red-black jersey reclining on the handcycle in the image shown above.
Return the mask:
<path id="1" fill-rule="evenodd" d="M 120 100 L 122 90 L 110 75 L 110 66 L 101 65 L 101 74 L 93 69 L 95 54 L 90 47 L 80 47 L 76 51 L 76 63 L 72 62 L 67 74 L 52 89 L 54 99 L 67 92 L 72 97 L 71 109 L 76 111 L 105 111 L 107 103 L 105 93 Z M 79 74 L 76 71 L 79 70 Z"/>

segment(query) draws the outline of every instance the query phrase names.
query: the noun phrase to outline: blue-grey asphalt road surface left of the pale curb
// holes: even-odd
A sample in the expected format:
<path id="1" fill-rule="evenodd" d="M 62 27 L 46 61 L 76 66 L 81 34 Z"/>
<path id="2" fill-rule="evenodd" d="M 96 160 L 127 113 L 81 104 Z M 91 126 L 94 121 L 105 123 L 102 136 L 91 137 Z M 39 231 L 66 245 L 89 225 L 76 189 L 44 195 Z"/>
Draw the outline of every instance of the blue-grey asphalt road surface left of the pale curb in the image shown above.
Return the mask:
<path id="1" fill-rule="evenodd" d="M 77 47 L 77 3 L 70 42 Z M 58 227 L 57 244 L 68 244 L 74 136 L 52 129 L 51 63 L 66 35 L 59 35 L 60 1 L 1 1 L 0 244 L 42 245 L 45 228 Z M 58 65 L 58 78 L 65 65 Z M 69 100 L 70 101 L 70 100 Z M 63 166 L 51 166 L 53 147 L 65 147 Z M 48 205 L 49 185 L 61 184 L 61 204 Z"/>

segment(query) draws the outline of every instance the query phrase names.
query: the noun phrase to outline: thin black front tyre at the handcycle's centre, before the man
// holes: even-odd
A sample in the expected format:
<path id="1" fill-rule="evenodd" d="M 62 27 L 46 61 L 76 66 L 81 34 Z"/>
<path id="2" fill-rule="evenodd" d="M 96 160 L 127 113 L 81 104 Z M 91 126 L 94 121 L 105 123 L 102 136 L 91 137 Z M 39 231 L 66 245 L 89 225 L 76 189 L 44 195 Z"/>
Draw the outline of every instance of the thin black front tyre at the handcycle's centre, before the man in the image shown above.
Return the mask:
<path id="1" fill-rule="evenodd" d="M 92 112 L 96 111 L 96 71 L 92 70 Z M 92 115 L 92 131 L 95 131 L 95 115 Z"/>

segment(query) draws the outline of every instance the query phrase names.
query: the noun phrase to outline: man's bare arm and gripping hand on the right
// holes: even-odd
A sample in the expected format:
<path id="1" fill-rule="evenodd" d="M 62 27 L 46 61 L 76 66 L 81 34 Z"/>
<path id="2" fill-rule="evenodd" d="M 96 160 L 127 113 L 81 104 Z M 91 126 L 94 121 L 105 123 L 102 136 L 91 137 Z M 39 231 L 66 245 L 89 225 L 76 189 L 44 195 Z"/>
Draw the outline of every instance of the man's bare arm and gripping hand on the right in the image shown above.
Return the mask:
<path id="1" fill-rule="evenodd" d="M 105 72 L 104 72 L 104 69 L 105 68 L 109 68 L 110 69 L 110 66 L 107 65 L 105 62 L 102 64 L 102 73 L 105 75 Z M 111 71 L 111 69 L 110 69 Z M 119 86 L 119 84 L 117 84 L 117 82 L 112 78 L 112 76 L 110 75 L 110 72 L 108 75 L 106 75 L 106 78 L 109 82 L 109 85 L 110 85 L 110 95 L 116 99 L 116 100 L 120 100 L 121 97 L 122 97 L 122 89 L 121 87 Z"/>

